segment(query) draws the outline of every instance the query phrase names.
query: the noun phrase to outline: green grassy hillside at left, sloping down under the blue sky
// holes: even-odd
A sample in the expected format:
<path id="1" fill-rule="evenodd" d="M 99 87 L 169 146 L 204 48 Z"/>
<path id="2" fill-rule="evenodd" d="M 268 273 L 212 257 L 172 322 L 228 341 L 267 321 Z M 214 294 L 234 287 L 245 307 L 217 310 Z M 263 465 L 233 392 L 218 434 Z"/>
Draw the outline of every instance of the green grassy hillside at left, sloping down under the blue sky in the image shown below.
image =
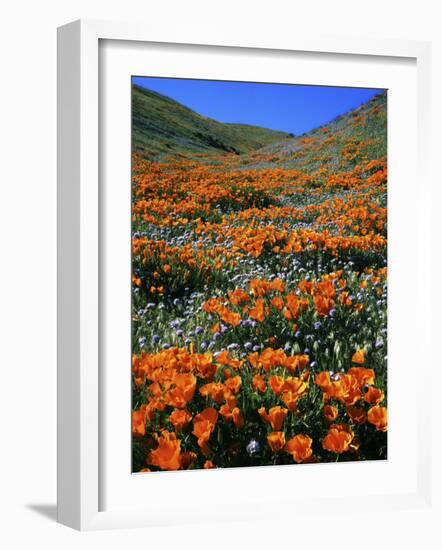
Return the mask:
<path id="1" fill-rule="evenodd" d="M 217 122 L 139 86 L 132 91 L 133 152 L 146 159 L 249 153 L 293 137 L 257 126 Z"/>

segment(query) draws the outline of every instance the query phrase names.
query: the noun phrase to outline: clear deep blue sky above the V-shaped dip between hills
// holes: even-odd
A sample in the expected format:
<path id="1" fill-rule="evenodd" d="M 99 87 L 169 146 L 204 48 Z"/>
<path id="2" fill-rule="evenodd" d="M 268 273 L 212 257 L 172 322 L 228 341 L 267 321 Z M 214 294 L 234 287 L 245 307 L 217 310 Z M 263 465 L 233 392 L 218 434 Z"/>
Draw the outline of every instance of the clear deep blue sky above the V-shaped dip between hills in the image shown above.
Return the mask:
<path id="1" fill-rule="evenodd" d="M 295 135 L 326 124 L 382 91 L 149 77 L 133 77 L 133 82 L 220 122 L 254 124 Z"/>

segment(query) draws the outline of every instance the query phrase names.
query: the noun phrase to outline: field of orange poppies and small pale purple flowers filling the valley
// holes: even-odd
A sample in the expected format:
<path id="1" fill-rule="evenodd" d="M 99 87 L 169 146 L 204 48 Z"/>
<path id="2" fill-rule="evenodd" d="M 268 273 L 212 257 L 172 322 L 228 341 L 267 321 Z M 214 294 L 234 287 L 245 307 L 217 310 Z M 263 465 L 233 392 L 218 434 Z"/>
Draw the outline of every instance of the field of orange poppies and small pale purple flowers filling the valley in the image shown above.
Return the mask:
<path id="1" fill-rule="evenodd" d="M 140 120 L 133 471 L 386 459 L 386 93 L 299 137 Z"/>

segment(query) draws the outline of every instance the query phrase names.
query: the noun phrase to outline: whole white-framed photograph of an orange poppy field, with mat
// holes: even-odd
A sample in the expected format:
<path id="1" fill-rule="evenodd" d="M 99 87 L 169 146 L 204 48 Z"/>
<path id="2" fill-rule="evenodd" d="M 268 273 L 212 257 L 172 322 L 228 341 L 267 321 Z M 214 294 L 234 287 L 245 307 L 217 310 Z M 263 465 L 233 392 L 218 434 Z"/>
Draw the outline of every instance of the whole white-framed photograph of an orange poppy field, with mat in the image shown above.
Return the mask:
<path id="1" fill-rule="evenodd" d="M 59 29 L 61 523 L 428 505 L 429 51 Z"/>

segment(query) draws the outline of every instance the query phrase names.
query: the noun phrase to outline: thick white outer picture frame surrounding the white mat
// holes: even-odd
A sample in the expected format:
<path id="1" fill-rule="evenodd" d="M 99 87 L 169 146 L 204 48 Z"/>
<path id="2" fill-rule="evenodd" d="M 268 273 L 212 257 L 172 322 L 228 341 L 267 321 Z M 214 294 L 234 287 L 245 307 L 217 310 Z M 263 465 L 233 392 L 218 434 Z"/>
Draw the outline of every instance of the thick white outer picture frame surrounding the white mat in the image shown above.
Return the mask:
<path id="1" fill-rule="evenodd" d="M 250 35 L 249 35 L 250 36 Z M 191 521 L 215 519 L 259 518 L 265 505 L 261 502 L 246 509 L 239 506 L 225 515 L 212 517 L 210 511 L 198 518 L 190 514 L 178 515 L 164 508 L 125 508 L 103 511 L 100 483 L 103 482 L 100 433 L 100 209 L 99 186 L 100 155 L 100 42 L 125 41 L 135 43 L 167 43 L 210 46 L 254 51 L 310 52 L 345 56 L 377 56 L 380 58 L 412 59 L 417 67 L 417 162 L 419 174 L 418 213 L 420 270 L 417 273 L 421 292 L 417 304 L 423 311 L 430 310 L 430 210 L 425 210 L 431 192 L 427 172 L 430 119 L 430 44 L 372 40 L 346 37 L 304 38 L 281 37 L 278 43 L 265 39 L 229 40 L 219 36 L 187 36 L 185 29 L 167 36 L 162 31 L 143 25 L 118 22 L 76 21 L 58 31 L 58 521 L 79 530 L 148 527 Z M 424 244 L 426 243 L 426 244 Z M 424 316 L 423 316 L 424 317 Z M 430 316 L 428 315 L 428 318 Z M 431 330 L 422 333 L 430 339 Z M 429 346 L 427 346 L 429 348 Z M 430 432 L 426 419 L 430 403 L 424 388 L 429 384 L 430 372 L 422 373 L 416 383 L 416 490 L 407 495 L 389 494 L 360 497 L 344 496 L 340 502 L 347 506 L 369 509 L 381 505 L 387 510 L 398 507 L 428 506 L 431 500 Z M 129 449 L 128 449 L 129 452 Z M 316 467 L 316 466 L 315 466 Z M 260 471 L 250 476 L 260 475 Z M 209 475 L 218 472 L 206 472 Z M 231 471 L 227 474 L 231 475 Z M 170 474 L 166 474 L 170 475 Z M 171 475 L 174 475 L 173 473 Z M 180 474 L 178 474 L 180 475 Z M 191 475 L 194 475 L 193 473 Z M 226 472 L 220 475 L 226 475 Z M 281 476 L 281 473 L 279 474 Z M 182 476 L 181 476 L 182 477 Z M 178 480 L 178 477 L 174 478 Z M 194 478 L 195 479 L 195 478 Z M 208 478 L 207 478 L 208 479 Z M 212 478 L 214 479 L 214 478 Z M 158 484 L 158 482 L 157 482 Z M 169 483 L 170 486 L 170 483 Z M 170 489 L 169 489 L 170 490 Z M 325 497 L 326 495 L 324 495 Z M 288 499 L 290 501 L 290 498 Z M 326 513 L 330 500 L 315 497 L 304 499 L 304 511 Z"/>

